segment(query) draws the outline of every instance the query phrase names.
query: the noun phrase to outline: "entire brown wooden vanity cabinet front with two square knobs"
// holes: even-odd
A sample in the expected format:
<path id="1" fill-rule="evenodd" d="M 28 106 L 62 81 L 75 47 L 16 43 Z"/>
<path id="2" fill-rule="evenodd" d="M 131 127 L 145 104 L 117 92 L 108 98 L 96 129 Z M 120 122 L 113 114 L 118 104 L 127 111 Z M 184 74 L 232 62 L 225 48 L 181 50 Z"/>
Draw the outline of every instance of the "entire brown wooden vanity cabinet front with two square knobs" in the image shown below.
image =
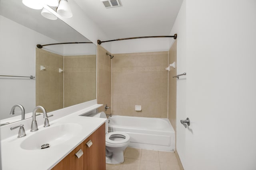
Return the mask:
<path id="1" fill-rule="evenodd" d="M 106 170 L 106 141 L 105 123 L 101 125 L 92 135 L 82 142 L 76 149 L 72 150 L 52 170 Z M 87 143 L 92 145 L 88 147 Z M 82 149 L 84 154 L 78 158 L 75 154 Z"/>

